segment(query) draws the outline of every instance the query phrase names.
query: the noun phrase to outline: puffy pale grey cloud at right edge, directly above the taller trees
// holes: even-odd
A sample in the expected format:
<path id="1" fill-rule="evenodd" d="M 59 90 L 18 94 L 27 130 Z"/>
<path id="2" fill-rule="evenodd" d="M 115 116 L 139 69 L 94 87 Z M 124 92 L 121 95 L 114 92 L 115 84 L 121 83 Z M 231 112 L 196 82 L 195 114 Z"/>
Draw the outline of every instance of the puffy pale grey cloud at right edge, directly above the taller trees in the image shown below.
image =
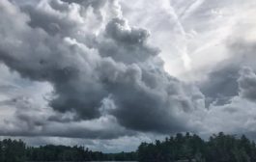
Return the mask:
<path id="1" fill-rule="evenodd" d="M 255 132 L 255 73 L 242 67 L 238 78 L 239 94 L 225 104 L 210 105 L 202 120 L 202 132 L 211 134 L 219 130 L 232 134 L 246 134 L 252 139 Z M 205 130 L 204 130 L 205 129 Z"/>

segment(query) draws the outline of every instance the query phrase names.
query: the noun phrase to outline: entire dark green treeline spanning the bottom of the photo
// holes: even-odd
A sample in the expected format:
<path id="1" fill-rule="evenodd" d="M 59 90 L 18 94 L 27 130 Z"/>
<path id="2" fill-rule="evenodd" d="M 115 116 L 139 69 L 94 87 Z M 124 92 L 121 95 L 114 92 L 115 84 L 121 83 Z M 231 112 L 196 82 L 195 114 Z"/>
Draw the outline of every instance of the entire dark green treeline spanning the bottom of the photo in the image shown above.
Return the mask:
<path id="1" fill-rule="evenodd" d="M 0 141 L 0 162 L 27 161 L 140 161 L 140 162 L 256 162 L 256 146 L 241 137 L 218 133 L 204 141 L 178 133 L 164 141 L 141 143 L 135 152 L 102 153 L 83 147 L 47 145 L 26 147 L 20 140 Z"/>

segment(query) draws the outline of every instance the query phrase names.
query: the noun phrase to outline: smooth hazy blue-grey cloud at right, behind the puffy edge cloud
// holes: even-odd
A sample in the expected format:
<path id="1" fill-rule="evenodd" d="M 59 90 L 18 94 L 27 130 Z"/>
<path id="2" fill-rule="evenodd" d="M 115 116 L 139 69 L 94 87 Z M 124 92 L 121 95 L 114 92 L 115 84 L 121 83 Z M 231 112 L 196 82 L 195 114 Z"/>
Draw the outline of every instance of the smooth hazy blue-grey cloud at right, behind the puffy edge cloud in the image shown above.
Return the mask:
<path id="1" fill-rule="evenodd" d="M 206 81 L 200 82 L 199 87 L 206 95 L 206 102 L 222 105 L 239 94 L 240 70 L 242 67 L 256 69 L 255 49 L 253 42 L 234 40 L 228 45 L 230 57 L 216 65 L 208 74 Z"/>

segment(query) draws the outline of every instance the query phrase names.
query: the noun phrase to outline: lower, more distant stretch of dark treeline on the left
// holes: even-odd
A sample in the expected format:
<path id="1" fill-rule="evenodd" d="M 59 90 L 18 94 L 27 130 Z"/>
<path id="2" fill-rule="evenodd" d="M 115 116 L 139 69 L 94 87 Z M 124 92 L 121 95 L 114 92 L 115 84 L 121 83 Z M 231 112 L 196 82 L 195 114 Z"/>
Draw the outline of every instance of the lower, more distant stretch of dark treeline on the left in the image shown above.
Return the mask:
<path id="1" fill-rule="evenodd" d="M 102 153 L 83 147 L 66 147 L 47 145 L 39 148 L 26 147 L 18 140 L 0 141 L 0 162 L 27 161 L 134 161 L 136 152 Z"/>

